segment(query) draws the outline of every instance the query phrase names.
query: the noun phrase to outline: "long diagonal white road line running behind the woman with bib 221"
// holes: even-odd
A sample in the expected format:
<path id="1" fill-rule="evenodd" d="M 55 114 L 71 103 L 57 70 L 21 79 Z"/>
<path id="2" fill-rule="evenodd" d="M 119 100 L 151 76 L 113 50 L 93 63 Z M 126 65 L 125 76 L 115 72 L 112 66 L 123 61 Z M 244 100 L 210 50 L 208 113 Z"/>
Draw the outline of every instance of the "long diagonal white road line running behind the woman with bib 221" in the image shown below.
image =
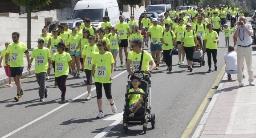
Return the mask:
<path id="1" fill-rule="evenodd" d="M 118 75 L 114 76 L 114 78 L 118 77 L 119 75 L 122 75 L 122 74 L 125 73 L 125 72 L 127 72 L 127 71 L 126 71 L 126 70 L 125 70 L 125 71 L 122 71 L 122 72 L 119 73 Z M 113 79 L 114 79 L 114 78 L 113 78 Z M 96 88 L 93 87 L 93 88 L 91 89 L 91 91 L 93 91 L 93 90 L 95 90 L 95 89 L 96 89 Z M 74 98 L 74 99 L 69 100 L 67 103 L 65 103 L 65 104 L 63 104 L 63 105 L 61 105 L 61 106 L 59 106 L 59 107 L 57 107 L 57 108 L 55 108 L 55 109 L 49 111 L 48 113 L 42 115 L 41 117 L 39 117 L 39 118 L 37 118 L 37 119 L 35 119 L 35 120 L 33 120 L 33 121 L 27 123 L 26 125 L 21 126 L 20 128 L 18 128 L 18 129 L 16 129 L 16 130 L 12 131 L 11 133 L 9 133 L 9 134 L 3 136 L 2 138 L 7 138 L 7 137 L 11 136 L 12 134 L 15 134 L 16 132 L 18 132 L 18 131 L 24 129 L 25 127 L 27 127 L 27 126 L 33 124 L 34 122 L 37 122 L 37 121 L 41 120 L 42 118 L 45 118 L 45 117 L 48 116 L 49 114 L 52 114 L 53 112 L 55 112 L 55 111 L 61 109 L 62 107 L 68 105 L 69 103 L 73 102 L 74 100 L 76 100 L 76 99 L 78 99 L 78 98 L 80 98 L 80 97 L 86 95 L 87 93 L 88 93 L 88 91 L 86 91 L 85 93 L 83 93 L 83 94 L 77 96 L 77 97 Z"/>

